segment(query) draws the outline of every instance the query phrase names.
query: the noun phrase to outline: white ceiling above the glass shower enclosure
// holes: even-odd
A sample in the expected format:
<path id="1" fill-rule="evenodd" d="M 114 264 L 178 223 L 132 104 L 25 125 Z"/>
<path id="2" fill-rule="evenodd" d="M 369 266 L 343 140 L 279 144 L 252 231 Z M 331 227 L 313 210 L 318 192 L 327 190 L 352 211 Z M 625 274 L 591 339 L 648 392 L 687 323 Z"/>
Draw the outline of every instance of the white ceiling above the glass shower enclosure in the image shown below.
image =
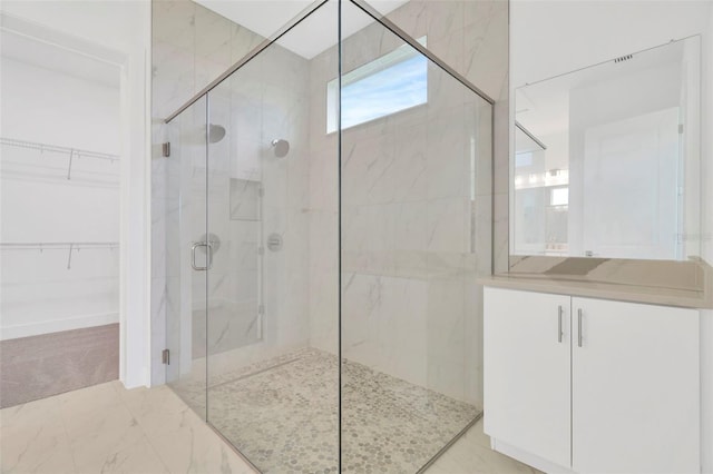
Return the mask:
<path id="1" fill-rule="evenodd" d="M 292 19 L 304 14 L 313 0 L 195 0 L 203 7 L 215 11 L 228 20 L 241 24 L 264 38 L 271 38 Z M 407 3 L 408 0 L 372 0 L 369 4 L 382 14 Z M 342 3 L 342 32 L 346 38 L 373 20 L 351 2 Z M 329 1 L 299 28 L 290 31 L 289 37 L 277 41 L 290 51 L 312 59 L 338 42 L 338 2 Z"/>

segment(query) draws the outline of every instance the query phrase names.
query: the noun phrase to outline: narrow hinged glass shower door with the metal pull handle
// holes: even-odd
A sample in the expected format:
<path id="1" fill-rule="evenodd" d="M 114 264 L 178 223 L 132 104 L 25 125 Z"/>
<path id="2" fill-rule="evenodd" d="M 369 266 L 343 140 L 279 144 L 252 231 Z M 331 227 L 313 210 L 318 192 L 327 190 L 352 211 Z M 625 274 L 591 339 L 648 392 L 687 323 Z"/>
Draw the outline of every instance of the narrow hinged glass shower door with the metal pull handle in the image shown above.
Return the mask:
<path id="1" fill-rule="evenodd" d="M 207 98 L 169 125 L 166 162 L 166 382 L 201 416 L 206 414 Z M 166 361 L 165 361 L 166 362 Z"/>

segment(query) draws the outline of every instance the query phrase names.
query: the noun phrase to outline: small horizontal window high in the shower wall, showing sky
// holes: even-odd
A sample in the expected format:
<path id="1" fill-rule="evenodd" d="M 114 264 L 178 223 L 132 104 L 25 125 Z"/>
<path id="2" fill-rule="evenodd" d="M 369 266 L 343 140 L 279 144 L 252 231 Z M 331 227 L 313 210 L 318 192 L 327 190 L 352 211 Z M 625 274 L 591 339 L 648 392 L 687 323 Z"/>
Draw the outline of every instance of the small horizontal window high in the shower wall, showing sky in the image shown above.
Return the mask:
<path id="1" fill-rule="evenodd" d="M 417 40 L 426 46 L 426 37 Z M 326 132 L 336 131 L 339 85 L 326 85 Z M 428 101 L 428 60 L 409 45 L 342 77 L 342 129 Z"/>

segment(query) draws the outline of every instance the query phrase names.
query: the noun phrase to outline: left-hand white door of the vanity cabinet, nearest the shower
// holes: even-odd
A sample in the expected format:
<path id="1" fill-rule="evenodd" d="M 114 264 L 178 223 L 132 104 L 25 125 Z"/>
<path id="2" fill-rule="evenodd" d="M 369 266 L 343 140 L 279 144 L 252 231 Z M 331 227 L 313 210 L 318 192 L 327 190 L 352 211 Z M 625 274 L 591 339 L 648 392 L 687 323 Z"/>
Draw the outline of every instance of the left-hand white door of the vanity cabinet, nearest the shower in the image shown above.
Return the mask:
<path id="1" fill-rule="evenodd" d="M 485 288 L 485 432 L 570 464 L 570 297 Z"/>

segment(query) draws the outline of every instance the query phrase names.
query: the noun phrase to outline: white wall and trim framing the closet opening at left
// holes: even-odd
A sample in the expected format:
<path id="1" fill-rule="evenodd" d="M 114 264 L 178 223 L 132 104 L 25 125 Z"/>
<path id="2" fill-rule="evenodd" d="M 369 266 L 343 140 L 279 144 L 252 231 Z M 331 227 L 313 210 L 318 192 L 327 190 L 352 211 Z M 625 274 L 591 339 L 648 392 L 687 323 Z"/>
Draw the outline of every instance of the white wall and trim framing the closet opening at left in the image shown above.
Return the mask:
<path id="1" fill-rule="evenodd" d="M 149 176 L 148 95 L 150 3 L 136 1 L 17 1 L 3 13 L 45 40 L 70 43 L 121 67 L 120 378 L 127 387 L 149 383 Z"/>

